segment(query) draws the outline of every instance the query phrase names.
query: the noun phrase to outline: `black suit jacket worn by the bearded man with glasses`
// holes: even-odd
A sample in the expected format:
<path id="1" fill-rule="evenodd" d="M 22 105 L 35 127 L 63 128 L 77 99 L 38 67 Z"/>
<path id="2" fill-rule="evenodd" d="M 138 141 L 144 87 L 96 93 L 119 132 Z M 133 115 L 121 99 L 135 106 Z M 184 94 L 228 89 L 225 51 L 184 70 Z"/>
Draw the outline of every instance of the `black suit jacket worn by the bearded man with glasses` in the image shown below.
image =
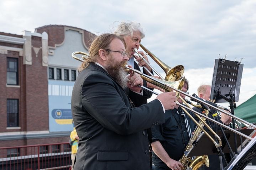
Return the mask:
<path id="1" fill-rule="evenodd" d="M 164 122 L 160 101 L 132 108 L 122 87 L 90 63 L 75 81 L 71 107 L 79 136 L 75 170 L 150 169 L 144 129 Z"/>

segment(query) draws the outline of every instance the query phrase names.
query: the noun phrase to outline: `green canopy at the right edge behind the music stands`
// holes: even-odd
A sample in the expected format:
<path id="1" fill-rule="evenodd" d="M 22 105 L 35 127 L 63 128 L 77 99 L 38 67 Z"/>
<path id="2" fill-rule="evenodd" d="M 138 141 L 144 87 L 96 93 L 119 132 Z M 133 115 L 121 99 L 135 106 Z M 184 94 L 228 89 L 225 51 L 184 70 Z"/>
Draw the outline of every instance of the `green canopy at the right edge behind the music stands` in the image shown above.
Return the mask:
<path id="1" fill-rule="evenodd" d="M 256 123 L 256 95 L 234 109 L 235 116 L 250 123 Z"/>

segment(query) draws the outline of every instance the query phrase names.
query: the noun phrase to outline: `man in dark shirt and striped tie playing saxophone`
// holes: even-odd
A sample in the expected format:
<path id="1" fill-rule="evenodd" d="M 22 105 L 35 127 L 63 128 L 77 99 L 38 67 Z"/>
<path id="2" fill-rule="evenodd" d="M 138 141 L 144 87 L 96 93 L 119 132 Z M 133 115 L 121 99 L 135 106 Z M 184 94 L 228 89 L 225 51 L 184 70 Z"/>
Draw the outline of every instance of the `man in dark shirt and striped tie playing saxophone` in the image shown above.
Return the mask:
<path id="1" fill-rule="evenodd" d="M 188 88 L 189 84 L 185 79 L 182 91 L 187 92 Z M 184 94 L 180 96 L 185 99 Z M 177 101 L 183 103 L 181 99 Z M 181 170 L 183 165 L 178 161 L 184 154 L 196 125 L 178 105 L 166 111 L 164 117 L 165 123 L 152 127 L 152 170 Z"/>

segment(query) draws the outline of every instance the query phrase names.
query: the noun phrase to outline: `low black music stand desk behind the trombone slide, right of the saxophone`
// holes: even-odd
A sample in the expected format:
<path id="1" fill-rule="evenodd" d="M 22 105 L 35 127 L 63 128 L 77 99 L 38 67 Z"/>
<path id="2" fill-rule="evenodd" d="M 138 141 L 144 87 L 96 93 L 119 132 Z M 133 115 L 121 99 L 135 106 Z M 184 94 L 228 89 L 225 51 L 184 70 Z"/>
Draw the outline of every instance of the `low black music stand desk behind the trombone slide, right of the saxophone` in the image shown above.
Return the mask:
<path id="1" fill-rule="evenodd" d="M 252 131 L 254 131 L 254 129 L 241 129 L 240 130 L 243 134 L 246 134 L 247 136 L 249 136 L 251 134 Z M 221 131 L 215 131 L 216 134 L 220 137 L 221 141 L 224 141 L 222 143 L 221 149 L 223 151 L 223 153 L 229 153 L 229 148 L 226 145 L 227 143 L 224 140 L 224 135 Z M 225 130 L 224 131 L 226 138 L 228 139 L 228 142 L 231 146 L 232 149 L 235 148 L 235 143 L 234 143 L 234 132 L 230 131 L 230 130 Z M 214 138 L 213 134 L 209 133 L 209 135 Z M 242 142 L 245 141 L 245 137 L 242 137 Z M 241 145 L 241 140 L 237 140 L 237 143 L 239 145 Z M 188 157 L 192 157 L 192 156 L 200 156 L 200 155 L 213 155 L 213 154 L 218 154 L 218 151 L 214 145 L 214 143 L 209 139 L 208 136 L 206 136 L 205 134 L 200 138 L 200 140 L 198 141 L 197 145 L 194 146 L 194 148 L 190 151 L 190 153 L 188 154 Z"/>

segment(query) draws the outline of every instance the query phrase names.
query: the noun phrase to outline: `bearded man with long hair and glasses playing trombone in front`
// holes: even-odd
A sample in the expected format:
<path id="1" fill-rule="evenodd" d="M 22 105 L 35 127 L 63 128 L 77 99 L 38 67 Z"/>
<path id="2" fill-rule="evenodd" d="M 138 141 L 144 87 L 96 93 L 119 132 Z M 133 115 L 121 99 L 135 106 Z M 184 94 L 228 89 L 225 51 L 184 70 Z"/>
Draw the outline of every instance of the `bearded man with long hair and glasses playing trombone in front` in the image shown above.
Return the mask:
<path id="1" fill-rule="evenodd" d="M 114 34 L 95 38 L 79 68 L 72 92 L 72 115 L 79 136 L 75 170 L 150 169 L 144 129 L 164 121 L 176 105 L 175 92 L 134 107 L 124 88 L 141 92 L 139 74 L 127 75 L 125 41 Z"/>

